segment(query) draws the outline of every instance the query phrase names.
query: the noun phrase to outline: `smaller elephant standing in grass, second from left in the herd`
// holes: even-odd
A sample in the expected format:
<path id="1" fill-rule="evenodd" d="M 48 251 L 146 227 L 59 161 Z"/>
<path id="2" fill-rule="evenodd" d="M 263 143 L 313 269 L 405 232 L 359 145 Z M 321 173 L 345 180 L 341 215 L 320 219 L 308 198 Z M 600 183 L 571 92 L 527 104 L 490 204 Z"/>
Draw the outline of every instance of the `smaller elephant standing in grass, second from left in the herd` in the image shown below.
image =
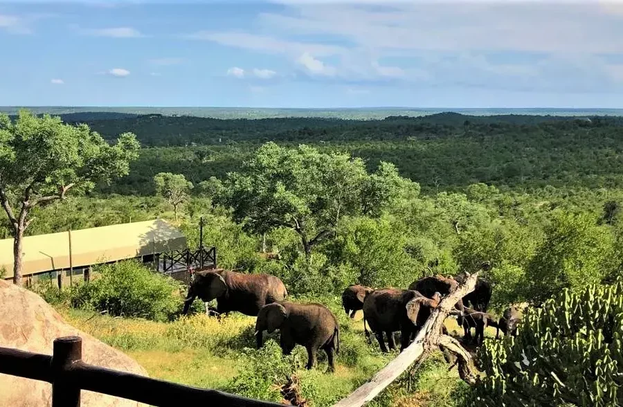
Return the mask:
<path id="1" fill-rule="evenodd" d="M 323 349 L 329 361 L 329 372 L 335 371 L 333 352 L 339 353 L 340 350 L 340 327 L 327 307 L 289 301 L 264 305 L 255 323 L 258 349 L 262 347 L 262 332 L 271 333 L 275 329 L 280 332 L 283 354 L 290 354 L 297 344 L 305 346 L 308 356 L 305 368 L 311 369 L 316 363 L 316 352 Z"/>

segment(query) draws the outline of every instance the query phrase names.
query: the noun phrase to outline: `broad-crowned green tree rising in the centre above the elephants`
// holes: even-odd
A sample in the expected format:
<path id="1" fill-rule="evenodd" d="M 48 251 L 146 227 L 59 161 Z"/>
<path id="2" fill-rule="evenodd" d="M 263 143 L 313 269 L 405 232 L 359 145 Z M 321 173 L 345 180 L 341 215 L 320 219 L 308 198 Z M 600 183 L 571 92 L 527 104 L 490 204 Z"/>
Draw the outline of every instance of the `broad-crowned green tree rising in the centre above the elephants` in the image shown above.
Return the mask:
<path id="1" fill-rule="evenodd" d="M 340 219 L 378 215 L 406 182 L 390 163 L 368 174 L 363 160 L 350 154 L 269 142 L 240 172 L 228 174 L 219 201 L 253 233 L 295 230 L 309 261 L 312 248 L 334 235 Z"/>

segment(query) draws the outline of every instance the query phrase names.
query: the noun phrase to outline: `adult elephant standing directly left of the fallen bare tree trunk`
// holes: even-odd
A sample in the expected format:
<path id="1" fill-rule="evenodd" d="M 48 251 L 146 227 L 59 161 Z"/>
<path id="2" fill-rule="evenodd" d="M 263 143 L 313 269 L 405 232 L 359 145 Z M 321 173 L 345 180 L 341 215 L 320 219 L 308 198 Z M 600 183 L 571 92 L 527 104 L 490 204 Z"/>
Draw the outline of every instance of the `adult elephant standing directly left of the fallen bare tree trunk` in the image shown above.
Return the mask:
<path id="1" fill-rule="evenodd" d="M 365 298 L 363 318 L 368 321 L 368 326 L 374 332 L 382 352 L 388 352 L 383 340 L 383 332 L 387 336 L 389 348 L 393 350 L 396 347 L 393 333 L 400 331 L 401 352 L 409 345 L 411 337 L 417 332 L 417 324 L 422 323 L 421 318 L 418 320 L 418 315 L 422 309 L 430 305 L 426 301 L 419 302 L 415 307 L 413 305 L 407 307 L 408 303 L 415 298 L 424 299 L 424 296 L 414 290 L 378 289 Z"/>

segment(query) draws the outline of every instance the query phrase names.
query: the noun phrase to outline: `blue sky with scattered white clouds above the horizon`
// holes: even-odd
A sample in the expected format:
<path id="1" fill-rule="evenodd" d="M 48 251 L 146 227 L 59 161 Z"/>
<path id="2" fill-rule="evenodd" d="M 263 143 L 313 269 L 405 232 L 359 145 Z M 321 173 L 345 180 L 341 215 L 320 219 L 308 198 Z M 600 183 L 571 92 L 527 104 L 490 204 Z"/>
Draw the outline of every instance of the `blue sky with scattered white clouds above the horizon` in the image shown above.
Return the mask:
<path id="1" fill-rule="evenodd" d="M 623 107 L 623 2 L 0 0 L 0 105 Z"/>

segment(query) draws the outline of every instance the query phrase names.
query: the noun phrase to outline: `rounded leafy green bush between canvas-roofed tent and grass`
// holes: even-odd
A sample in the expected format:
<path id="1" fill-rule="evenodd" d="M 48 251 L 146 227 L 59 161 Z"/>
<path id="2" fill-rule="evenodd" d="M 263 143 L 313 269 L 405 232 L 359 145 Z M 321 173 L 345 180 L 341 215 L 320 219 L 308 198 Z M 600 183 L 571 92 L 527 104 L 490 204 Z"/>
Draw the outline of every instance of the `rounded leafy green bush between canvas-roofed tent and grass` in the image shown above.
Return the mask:
<path id="1" fill-rule="evenodd" d="M 135 260 L 93 267 L 92 275 L 91 282 L 71 291 L 74 307 L 153 320 L 170 319 L 179 311 L 181 284 Z"/>

